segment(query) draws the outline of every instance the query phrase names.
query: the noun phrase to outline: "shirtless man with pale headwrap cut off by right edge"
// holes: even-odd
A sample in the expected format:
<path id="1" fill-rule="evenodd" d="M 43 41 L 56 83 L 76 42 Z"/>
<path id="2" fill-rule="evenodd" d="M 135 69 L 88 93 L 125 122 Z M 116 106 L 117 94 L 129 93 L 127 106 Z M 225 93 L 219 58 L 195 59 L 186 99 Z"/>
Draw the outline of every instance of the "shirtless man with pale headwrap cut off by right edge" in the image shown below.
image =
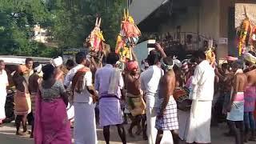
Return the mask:
<path id="1" fill-rule="evenodd" d="M 247 86 L 245 90 L 245 110 L 244 110 L 244 124 L 245 124 L 245 142 L 255 141 L 255 121 L 254 110 L 256 100 L 256 57 L 253 54 L 244 54 L 244 60 L 248 68 L 245 70 L 247 76 Z M 250 131 L 250 138 L 249 137 Z"/>

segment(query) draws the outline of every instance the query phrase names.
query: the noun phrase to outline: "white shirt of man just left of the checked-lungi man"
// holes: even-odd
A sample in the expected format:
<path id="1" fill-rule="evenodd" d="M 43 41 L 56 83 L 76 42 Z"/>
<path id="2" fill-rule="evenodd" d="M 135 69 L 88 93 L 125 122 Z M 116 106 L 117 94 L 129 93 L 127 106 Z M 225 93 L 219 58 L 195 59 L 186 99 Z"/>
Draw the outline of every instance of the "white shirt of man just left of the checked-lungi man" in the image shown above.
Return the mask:
<path id="1" fill-rule="evenodd" d="M 142 90 L 146 92 L 146 102 L 150 107 L 155 107 L 155 97 L 158 94 L 158 84 L 164 72 L 158 66 L 150 66 L 141 74 Z"/>

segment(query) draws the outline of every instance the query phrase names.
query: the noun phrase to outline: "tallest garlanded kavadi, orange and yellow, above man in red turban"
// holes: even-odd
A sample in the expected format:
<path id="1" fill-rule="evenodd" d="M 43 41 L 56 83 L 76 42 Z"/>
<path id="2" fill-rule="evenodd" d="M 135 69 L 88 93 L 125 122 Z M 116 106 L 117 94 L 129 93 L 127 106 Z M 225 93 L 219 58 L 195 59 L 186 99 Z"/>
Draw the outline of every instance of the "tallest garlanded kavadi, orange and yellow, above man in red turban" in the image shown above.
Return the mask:
<path id="1" fill-rule="evenodd" d="M 115 47 L 115 52 L 120 55 L 121 62 L 126 62 L 127 59 L 132 59 L 130 48 L 137 44 L 139 36 L 141 36 L 141 31 L 138 30 L 138 27 L 134 23 L 134 18 L 130 16 L 128 10 L 124 10 L 121 30 L 118 34 Z"/>

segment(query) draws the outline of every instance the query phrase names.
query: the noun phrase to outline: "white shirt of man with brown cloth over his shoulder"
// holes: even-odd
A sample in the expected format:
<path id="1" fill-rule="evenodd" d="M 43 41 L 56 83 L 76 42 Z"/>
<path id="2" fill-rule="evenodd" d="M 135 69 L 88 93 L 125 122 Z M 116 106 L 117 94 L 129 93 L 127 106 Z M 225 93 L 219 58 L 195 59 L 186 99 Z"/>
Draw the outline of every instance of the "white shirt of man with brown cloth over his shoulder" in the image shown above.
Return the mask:
<path id="1" fill-rule="evenodd" d="M 70 83 L 72 82 L 74 78 L 74 74 L 77 73 L 79 69 L 84 67 L 83 65 L 75 66 L 73 69 L 71 69 L 68 74 L 66 74 L 64 86 L 70 86 Z M 87 90 L 86 86 L 93 86 L 92 84 L 92 73 L 90 71 L 87 71 L 84 78 L 83 78 L 83 90 L 82 92 L 76 93 L 74 92 L 74 102 L 93 102 L 93 99 L 90 96 L 89 91 Z"/>

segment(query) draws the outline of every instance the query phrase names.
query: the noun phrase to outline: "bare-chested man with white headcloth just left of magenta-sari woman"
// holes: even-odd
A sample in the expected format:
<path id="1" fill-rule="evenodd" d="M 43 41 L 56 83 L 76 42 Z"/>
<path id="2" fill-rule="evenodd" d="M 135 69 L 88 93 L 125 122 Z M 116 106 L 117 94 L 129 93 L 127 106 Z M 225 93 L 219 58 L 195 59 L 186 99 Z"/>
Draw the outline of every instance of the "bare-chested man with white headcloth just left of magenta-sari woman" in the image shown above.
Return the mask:
<path id="1" fill-rule="evenodd" d="M 42 65 L 39 62 L 34 62 L 33 70 L 34 70 L 34 74 L 30 75 L 30 78 L 29 78 L 31 109 L 33 114 L 30 138 L 33 138 L 33 132 L 34 132 L 35 97 L 38 94 L 38 86 L 42 81 L 42 77 L 39 76 L 39 74 L 42 72 Z"/>

